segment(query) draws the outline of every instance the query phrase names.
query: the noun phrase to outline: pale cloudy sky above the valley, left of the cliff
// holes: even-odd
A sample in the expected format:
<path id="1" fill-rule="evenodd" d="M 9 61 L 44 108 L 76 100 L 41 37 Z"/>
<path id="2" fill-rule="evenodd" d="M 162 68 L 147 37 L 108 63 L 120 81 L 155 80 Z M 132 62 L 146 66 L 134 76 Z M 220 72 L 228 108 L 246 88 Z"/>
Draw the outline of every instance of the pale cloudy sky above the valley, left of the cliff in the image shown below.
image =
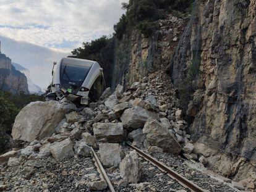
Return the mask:
<path id="1" fill-rule="evenodd" d="M 83 42 L 111 35 L 128 0 L 1 0 L 1 51 L 45 89 L 54 61 Z"/>

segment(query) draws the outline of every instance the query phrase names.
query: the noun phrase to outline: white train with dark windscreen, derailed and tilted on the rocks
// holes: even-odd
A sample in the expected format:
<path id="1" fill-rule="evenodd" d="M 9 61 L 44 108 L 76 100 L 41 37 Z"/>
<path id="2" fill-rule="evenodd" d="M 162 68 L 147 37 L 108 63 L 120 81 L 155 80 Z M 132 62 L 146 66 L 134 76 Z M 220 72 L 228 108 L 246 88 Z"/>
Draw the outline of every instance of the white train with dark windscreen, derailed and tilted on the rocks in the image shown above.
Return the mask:
<path id="1" fill-rule="evenodd" d="M 75 104 L 97 101 L 106 88 L 103 69 L 98 62 L 71 57 L 54 63 L 51 93 L 46 100 L 67 98 Z"/>

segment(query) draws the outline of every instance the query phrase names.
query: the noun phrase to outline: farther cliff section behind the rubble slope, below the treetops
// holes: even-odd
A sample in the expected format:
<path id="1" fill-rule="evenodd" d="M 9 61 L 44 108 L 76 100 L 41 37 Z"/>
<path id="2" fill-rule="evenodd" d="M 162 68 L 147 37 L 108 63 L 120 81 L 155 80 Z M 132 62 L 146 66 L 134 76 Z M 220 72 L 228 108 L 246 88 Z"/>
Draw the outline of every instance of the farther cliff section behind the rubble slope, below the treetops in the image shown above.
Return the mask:
<path id="1" fill-rule="evenodd" d="M 168 15 L 159 21 L 160 29 L 150 37 L 133 30 L 116 42 L 112 88 L 117 84 L 130 86 L 148 73 L 164 69 L 171 61 L 186 20 Z"/>

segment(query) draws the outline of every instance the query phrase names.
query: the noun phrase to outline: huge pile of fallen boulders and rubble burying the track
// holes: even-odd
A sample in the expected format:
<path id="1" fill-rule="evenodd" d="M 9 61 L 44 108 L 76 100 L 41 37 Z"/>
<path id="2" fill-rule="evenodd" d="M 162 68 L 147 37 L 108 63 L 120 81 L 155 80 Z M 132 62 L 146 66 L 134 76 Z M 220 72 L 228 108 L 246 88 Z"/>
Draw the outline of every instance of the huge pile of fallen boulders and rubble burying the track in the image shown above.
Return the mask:
<path id="1" fill-rule="evenodd" d="M 124 141 L 130 141 L 147 152 L 183 154 L 187 159 L 207 164 L 205 157 L 193 152 L 194 146 L 186 134 L 187 122 L 182 120 L 177 102 L 168 75 L 161 72 L 135 82 L 126 91 L 118 85 L 111 94 L 107 88 L 100 101 L 92 102 L 80 111 L 75 111 L 74 106 L 61 107 L 54 101 L 33 102 L 22 109 L 14 123 L 12 135 L 15 140 L 22 140 L 24 146 L 0 156 L 0 189 L 8 191 L 12 187 L 27 187 L 31 178 L 46 179 L 40 174 L 47 172 L 49 161 L 57 163 L 69 159 L 67 164 L 70 167 L 79 167 L 80 164 L 72 159 L 90 159 L 91 148 L 98 151 L 101 163 L 113 176 L 114 185 L 125 187 L 129 183 L 139 183 L 142 172 L 140 159 L 136 152 L 126 151 Z M 31 161 L 41 163 L 36 165 Z M 16 173 L 17 177 L 11 179 L 7 172 Z M 65 175 L 66 170 L 59 172 Z M 72 191 L 72 187 L 76 190 L 80 185 L 90 190 L 105 190 L 107 186 L 103 180 L 88 174 L 89 180 L 69 178 L 69 183 L 74 182 L 69 190 Z M 47 177 L 48 183 L 54 182 L 52 178 Z M 30 185 L 45 191 L 51 189 L 36 182 L 38 180 L 33 180 Z"/>

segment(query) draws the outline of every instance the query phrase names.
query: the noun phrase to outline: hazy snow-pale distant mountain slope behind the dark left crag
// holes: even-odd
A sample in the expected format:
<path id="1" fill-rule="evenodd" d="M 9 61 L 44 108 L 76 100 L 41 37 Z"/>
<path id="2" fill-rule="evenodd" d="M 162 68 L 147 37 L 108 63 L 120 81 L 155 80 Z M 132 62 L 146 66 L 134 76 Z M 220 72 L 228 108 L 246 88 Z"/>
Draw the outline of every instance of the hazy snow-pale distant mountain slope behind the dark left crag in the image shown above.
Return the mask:
<path id="1" fill-rule="evenodd" d="M 30 71 L 28 69 L 26 69 L 25 67 L 22 67 L 22 65 L 15 64 L 14 62 L 12 62 L 12 65 L 15 67 L 16 70 L 19 70 L 20 72 L 22 72 L 27 77 L 28 91 L 31 94 L 43 94 L 43 92 L 41 91 L 40 86 L 35 85 L 33 83 L 33 81 L 30 79 Z"/>

